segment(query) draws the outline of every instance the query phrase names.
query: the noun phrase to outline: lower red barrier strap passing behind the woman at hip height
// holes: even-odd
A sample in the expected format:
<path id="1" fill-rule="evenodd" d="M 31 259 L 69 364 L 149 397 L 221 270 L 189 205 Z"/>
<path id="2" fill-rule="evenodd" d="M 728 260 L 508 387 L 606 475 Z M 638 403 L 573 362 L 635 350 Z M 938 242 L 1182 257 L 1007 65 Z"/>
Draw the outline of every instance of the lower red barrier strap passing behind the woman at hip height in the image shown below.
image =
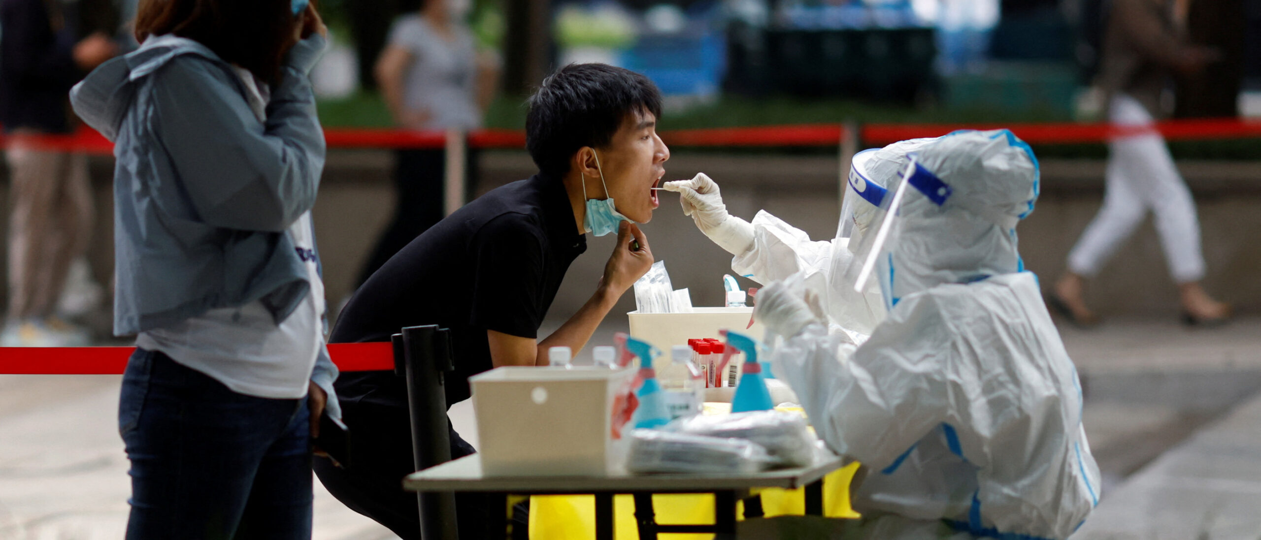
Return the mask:
<path id="1" fill-rule="evenodd" d="M 136 347 L 0 347 L 0 374 L 120 375 Z M 342 371 L 393 369 L 390 342 L 329 344 L 328 354 Z"/>

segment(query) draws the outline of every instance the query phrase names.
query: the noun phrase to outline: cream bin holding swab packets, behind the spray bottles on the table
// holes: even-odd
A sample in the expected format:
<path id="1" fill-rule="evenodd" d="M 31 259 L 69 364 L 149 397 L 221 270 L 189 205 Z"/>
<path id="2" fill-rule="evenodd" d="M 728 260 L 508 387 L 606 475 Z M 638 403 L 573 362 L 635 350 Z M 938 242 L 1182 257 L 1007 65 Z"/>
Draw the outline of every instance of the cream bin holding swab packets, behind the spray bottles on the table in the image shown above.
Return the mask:
<path id="1" fill-rule="evenodd" d="M 695 307 L 691 313 L 627 313 L 630 335 L 653 344 L 668 354 L 675 345 L 687 345 L 691 339 L 714 337 L 721 340 L 719 330 L 728 329 L 762 340 L 765 327 L 760 322 L 749 326 L 752 307 Z M 725 340 L 724 340 L 725 341 Z M 660 361 L 660 360 L 658 360 Z M 670 361 L 666 357 L 663 361 Z"/>

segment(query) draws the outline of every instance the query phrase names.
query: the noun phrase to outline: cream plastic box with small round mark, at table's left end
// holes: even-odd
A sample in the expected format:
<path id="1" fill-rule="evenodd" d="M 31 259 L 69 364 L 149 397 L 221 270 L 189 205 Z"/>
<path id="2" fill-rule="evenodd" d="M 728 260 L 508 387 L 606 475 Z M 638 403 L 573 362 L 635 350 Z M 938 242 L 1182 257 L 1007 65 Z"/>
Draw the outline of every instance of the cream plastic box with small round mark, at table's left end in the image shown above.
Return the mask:
<path id="1" fill-rule="evenodd" d="M 469 378 L 485 476 L 600 476 L 623 470 L 613 404 L 634 371 L 497 368 Z"/>

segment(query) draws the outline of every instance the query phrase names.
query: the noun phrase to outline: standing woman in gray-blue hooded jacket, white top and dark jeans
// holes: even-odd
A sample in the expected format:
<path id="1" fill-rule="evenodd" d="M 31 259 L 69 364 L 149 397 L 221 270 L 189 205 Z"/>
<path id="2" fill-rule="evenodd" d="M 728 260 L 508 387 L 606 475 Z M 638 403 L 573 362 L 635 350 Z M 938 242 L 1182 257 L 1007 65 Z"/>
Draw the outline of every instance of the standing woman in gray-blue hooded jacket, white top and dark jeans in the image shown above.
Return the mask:
<path id="1" fill-rule="evenodd" d="M 71 92 L 115 142 L 127 539 L 309 539 L 311 436 L 338 415 L 310 219 L 323 23 L 306 0 L 141 0 L 136 39 Z"/>

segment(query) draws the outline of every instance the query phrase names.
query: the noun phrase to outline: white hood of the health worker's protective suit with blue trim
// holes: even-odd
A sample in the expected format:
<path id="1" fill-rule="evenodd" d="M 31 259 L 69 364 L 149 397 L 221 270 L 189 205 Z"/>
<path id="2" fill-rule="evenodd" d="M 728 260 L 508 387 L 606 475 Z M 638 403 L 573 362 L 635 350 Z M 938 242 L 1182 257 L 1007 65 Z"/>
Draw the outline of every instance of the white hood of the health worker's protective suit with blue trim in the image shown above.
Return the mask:
<path id="1" fill-rule="evenodd" d="M 1008 130 L 956 131 L 915 152 L 909 184 L 895 237 L 876 254 L 886 307 L 938 284 L 1024 271 L 1015 227 L 1039 190 L 1028 143 Z"/>

